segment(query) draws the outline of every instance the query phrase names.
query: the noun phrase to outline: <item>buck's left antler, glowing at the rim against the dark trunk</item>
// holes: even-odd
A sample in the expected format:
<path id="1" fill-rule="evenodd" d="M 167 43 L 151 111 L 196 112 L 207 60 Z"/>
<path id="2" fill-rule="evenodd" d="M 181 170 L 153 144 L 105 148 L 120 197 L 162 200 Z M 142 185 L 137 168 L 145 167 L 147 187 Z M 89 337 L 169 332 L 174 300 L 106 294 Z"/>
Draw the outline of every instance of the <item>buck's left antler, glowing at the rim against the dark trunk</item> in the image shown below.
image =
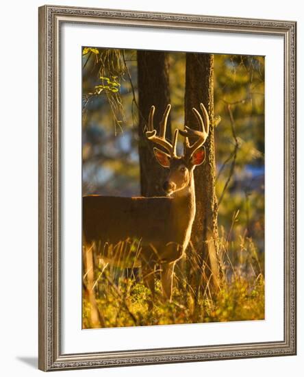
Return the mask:
<path id="1" fill-rule="evenodd" d="M 157 136 L 156 130 L 153 127 L 153 115 L 155 112 L 155 106 L 151 106 L 148 120 L 148 131 L 146 131 L 146 136 L 149 140 L 153 141 L 155 144 L 161 145 L 169 152 L 171 157 L 175 156 L 175 149 L 171 143 L 166 141 L 166 125 L 168 120 L 168 115 L 171 109 L 171 105 L 166 107 L 162 121 L 160 121 L 160 136 Z"/>

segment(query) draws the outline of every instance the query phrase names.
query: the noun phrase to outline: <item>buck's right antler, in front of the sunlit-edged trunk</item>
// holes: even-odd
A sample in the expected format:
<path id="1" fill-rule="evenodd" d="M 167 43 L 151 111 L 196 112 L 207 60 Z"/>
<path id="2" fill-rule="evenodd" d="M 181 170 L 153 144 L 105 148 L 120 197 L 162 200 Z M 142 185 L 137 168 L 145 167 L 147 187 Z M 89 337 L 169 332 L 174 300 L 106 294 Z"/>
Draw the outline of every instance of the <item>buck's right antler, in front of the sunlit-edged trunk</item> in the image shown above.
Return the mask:
<path id="1" fill-rule="evenodd" d="M 199 149 L 201 147 L 209 134 L 209 116 L 207 113 L 207 110 L 205 109 L 205 106 L 203 104 L 200 104 L 201 110 L 203 112 L 203 119 L 201 117 L 201 114 L 197 111 L 196 108 L 192 108 L 192 111 L 197 118 L 197 121 L 199 123 L 200 130 L 192 130 L 192 128 L 187 127 L 185 125 L 185 129 L 183 131 L 179 130 L 179 133 L 186 137 L 186 143 L 185 143 L 185 151 L 184 156 L 185 158 L 191 158 L 192 154 L 194 154 L 194 151 Z M 188 138 L 189 137 L 196 137 L 197 141 L 195 141 L 191 146 L 189 145 Z"/>

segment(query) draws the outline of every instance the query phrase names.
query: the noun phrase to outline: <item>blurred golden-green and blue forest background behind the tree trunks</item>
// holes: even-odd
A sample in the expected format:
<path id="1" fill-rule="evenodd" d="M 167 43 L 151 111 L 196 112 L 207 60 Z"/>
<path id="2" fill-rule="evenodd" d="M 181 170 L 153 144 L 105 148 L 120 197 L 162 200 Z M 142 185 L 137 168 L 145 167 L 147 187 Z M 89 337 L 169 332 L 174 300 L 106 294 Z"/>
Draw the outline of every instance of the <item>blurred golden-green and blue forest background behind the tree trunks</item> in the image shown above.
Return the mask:
<path id="1" fill-rule="evenodd" d="M 175 129 L 186 53 L 166 58 Z M 83 195 L 138 196 L 138 117 L 148 114 L 138 110 L 136 50 L 84 47 L 82 66 Z M 219 227 L 232 241 L 252 237 L 264 254 L 264 57 L 214 56 L 214 114 Z"/>

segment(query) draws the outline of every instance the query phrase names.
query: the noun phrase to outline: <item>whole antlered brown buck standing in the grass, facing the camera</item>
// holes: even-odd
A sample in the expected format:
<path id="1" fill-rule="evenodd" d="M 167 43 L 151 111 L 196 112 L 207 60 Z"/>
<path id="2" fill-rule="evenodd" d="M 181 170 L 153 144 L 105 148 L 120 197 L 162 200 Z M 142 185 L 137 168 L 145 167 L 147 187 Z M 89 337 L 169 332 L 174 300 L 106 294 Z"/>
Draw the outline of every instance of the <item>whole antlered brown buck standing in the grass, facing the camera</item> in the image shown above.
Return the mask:
<path id="1" fill-rule="evenodd" d="M 88 195 L 83 198 L 84 247 L 101 252 L 105 262 L 121 267 L 142 267 L 144 284 L 154 295 L 155 265 L 160 265 L 162 290 L 170 300 L 175 263 L 190 241 L 195 216 L 193 171 L 205 160 L 205 143 L 209 132 L 207 110 L 201 104 L 202 116 L 193 112 L 199 130 L 185 126 L 175 130 L 173 143 L 166 140 L 167 106 L 160 134 L 153 128 L 154 106 L 151 107 L 146 136 L 164 151 L 154 148 L 162 167 L 168 169 L 163 184 L 166 197 L 105 197 Z M 185 137 L 183 156 L 177 156 L 177 135 Z M 190 145 L 189 139 L 194 139 Z M 137 240 L 137 247 L 134 247 Z M 127 247 L 126 247 L 127 245 Z"/>

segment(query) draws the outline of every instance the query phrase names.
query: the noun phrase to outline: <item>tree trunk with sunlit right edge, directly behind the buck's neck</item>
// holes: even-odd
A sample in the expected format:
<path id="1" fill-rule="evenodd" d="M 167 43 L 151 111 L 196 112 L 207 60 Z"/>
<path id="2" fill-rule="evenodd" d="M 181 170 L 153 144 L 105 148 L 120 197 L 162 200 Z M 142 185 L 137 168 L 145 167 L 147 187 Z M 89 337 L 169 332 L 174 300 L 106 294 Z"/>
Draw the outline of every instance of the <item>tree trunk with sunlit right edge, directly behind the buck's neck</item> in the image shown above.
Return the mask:
<path id="1" fill-rule="evenodd" d="M 200 110 L 203 103 L 210 117 L 210 131 L 205 142 L 206 158 L 194 171 L 197 212 L 192 227 L 191 241 L 196 253 L 197 289 L 211 278 L 218 287 L 218 206 L 215 192 L 214 156 L 214 56 L 209 53 L 186 53 L 185 124 L 197 128 L 192 108 Z M 205 268 L 204 268 L 205 267 Z M 203 268 L 203 270 L 202 270 Z M 205 273 L 202 273 L 205 271 Z M 194 274 L 195 275 L 195 274 Z M 203 284 L 205 285 L 205 284 Z"/>

